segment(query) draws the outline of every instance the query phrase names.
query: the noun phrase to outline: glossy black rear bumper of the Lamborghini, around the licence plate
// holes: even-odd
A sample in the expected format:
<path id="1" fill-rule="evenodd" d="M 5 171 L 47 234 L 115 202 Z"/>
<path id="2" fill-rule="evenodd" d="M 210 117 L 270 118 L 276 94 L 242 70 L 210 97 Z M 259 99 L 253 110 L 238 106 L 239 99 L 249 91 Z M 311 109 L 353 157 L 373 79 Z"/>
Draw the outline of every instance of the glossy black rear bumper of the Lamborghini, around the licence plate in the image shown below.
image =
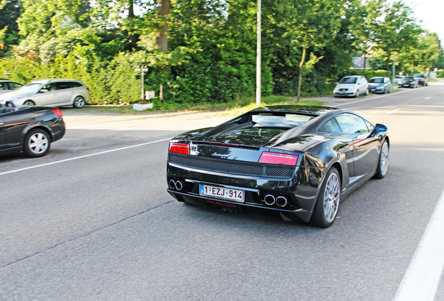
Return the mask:
<path id="1" fill-rule="evenodd" d="M 284 179 L 228 175 L 184 169 L 168 164 L 167 191 L 177 201 L 199 206 L 309 222 L 323 171 L 324 169 L 296 167 L 293 177 Z M 179 184 L 176 187 L 177 181 Z M 233 201 L 223 197 L 203 195 L 200 185 L 242 190 L 244 200 Z M 266 196 L 276 201 L 265 201 Z"/>

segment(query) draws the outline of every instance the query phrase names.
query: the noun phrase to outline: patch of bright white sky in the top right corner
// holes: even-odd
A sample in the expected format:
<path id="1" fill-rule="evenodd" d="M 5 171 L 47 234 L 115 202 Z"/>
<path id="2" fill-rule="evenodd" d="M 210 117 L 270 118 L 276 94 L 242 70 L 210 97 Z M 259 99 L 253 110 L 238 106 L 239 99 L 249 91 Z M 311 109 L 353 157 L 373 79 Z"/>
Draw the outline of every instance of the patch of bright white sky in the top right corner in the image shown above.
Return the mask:
<path id="1" fill-rule="evenodd" d="M 413 17 L 422 20 L 422 28 L 438 33 L 444 45 L 444 0 L 404 0 L 413 9 Z"/>

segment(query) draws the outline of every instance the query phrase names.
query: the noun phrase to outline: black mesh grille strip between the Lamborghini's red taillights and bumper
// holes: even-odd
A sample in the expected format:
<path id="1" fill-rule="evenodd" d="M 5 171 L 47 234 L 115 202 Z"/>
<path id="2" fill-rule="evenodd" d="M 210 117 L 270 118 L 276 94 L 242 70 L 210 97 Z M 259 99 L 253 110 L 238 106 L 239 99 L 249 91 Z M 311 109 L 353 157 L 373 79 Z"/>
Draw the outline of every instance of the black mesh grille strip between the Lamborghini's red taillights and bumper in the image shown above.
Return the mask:
<path id="1" fill-rule="evenodd" d="M 169 153 L 170 163 L 193 169 L 203 169 L 221 173 L 234 173 L 242 176 L 265 176 L 272 178 L 291 178 L 294 166 L 262 164 L 235 160 L 223 160 L 195 155 Z"/>

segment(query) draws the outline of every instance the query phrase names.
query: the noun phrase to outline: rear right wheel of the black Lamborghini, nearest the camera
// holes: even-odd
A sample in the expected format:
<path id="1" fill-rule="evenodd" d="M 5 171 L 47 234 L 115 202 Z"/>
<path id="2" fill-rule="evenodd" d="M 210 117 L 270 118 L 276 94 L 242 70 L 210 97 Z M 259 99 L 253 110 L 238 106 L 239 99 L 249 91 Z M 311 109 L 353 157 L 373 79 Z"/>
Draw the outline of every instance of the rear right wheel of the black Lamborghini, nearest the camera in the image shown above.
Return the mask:
<path id="1" fill-rule="evenodd" d="M 320 228 L 332 226 L 336 213 L 338 213 L 340 199 L 341 179 L 338 170 L 332 167 L 320 187 L 318 199 L 311 216 L 311 224 Z"/>

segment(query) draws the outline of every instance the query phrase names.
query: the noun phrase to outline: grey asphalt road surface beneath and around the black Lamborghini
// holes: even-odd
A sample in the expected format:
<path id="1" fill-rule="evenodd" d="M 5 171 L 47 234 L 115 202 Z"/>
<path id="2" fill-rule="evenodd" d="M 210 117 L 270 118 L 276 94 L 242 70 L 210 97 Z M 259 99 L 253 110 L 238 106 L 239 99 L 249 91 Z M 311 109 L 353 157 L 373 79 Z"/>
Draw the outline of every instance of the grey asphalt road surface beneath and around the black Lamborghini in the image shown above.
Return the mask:
<path id="1" fill-rule="evenodd" d="M 64 109 L 47 156 L 0 157 L 0 300 L 394 300 L 444 190 L 444 83 L 325 101 L 391 139 L 329 229 L 165 192 L 168 138 L 230 116 Z"/>

